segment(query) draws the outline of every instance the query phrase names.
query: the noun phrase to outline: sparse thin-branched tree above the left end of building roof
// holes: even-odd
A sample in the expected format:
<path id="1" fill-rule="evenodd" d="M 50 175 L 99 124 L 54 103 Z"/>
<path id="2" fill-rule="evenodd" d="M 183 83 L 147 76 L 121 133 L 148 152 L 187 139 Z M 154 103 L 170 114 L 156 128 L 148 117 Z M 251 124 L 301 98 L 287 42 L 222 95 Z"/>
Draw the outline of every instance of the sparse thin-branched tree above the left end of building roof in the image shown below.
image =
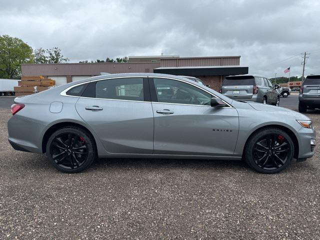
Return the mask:
<path id="1" fill-rule="evenodd" d="M 68 60 L 69 58 L 64 57 L 58 47 L 50 49 L 40 47 L 34 50 L 34 63 L 64 63 Z"/>

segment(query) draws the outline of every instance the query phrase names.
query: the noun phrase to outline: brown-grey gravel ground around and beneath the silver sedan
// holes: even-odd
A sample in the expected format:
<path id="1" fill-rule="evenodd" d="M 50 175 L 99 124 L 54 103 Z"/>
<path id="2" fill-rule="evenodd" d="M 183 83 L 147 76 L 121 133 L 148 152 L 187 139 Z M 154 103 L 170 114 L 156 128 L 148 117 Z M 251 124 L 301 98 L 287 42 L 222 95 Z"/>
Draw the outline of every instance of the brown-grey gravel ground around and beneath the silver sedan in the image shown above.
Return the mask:
<path id="1" fill-rule="evenodd" d="M 307 115 L 320 125 L 320 111 Z M 65 174 L 9 146 L 9 117 L 0 109 L 0 239 L 320 238 L 318 147 L 273 175 L 168 159 L 101 159 Z"/>

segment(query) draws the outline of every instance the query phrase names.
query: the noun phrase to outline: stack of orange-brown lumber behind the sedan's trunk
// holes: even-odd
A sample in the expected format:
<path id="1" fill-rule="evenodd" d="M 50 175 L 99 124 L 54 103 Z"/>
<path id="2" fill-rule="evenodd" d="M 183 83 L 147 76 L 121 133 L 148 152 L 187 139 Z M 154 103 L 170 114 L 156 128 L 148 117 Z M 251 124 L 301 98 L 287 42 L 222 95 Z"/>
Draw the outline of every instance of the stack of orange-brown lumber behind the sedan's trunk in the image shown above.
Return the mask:
<path id="1" fill-rule="evenodd" d="M 22 96 L 47 90 L 55 85 L 55 81 L 43 76 L 21 76 L 18 85 L 14 87 L 15 95 Z"/>

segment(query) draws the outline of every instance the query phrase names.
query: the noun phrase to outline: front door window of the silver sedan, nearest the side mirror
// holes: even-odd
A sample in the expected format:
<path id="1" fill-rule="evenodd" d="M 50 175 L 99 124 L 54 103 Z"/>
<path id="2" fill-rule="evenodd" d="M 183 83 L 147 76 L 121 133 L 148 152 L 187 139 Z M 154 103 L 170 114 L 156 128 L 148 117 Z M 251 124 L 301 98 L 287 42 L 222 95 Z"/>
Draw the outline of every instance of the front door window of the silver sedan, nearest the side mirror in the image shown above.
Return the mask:
<path id="1" fill-rule="evenodd" d="M 191 84 L 166 79 L 153 78 L 158 102 L 210 105 L 211 94 Z"/>

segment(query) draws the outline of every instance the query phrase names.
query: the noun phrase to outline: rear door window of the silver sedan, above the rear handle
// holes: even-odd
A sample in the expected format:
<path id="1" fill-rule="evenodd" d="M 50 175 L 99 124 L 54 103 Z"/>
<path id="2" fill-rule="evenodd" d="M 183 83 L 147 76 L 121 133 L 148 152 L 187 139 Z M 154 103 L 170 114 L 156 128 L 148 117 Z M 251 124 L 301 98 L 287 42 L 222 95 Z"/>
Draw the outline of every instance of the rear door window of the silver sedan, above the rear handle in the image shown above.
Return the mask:
<path id="1" fill-rule="evenodd" d="M 95 97 L 143 101 L 143 78 L 115 78 L 97 81 Z"/>

